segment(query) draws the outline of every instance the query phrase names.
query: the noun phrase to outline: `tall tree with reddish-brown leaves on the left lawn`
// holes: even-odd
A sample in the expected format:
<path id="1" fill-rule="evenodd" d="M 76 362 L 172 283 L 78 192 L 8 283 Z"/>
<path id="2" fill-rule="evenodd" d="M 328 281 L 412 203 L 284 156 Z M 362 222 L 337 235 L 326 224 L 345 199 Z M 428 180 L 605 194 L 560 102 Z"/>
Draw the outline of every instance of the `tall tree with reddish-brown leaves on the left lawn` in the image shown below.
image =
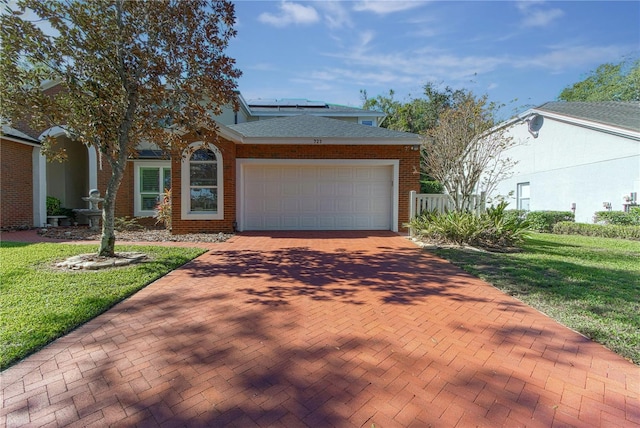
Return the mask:
<path id="1" fill-rule="evenodd" d="M 30 9 L 38 18 L 28 21 Z M 2 115 L 63 127 L 111 167 L 98 253 L 114 254 L 114 208 L 127 159 L 143 141 L 165 152 L 183 135 L 215 133 L 241 72 L 224 51 L 234 29 L 227 0 L 18 0 L 0 21 Z M 53 31 L 44 32 L 41 24 Z M 38 64 L 37 67 L 24 67 Z M 40 89 L 59 81 L 62 91 Z M 45 146 L 50 142 L 45 142 Z"/>

